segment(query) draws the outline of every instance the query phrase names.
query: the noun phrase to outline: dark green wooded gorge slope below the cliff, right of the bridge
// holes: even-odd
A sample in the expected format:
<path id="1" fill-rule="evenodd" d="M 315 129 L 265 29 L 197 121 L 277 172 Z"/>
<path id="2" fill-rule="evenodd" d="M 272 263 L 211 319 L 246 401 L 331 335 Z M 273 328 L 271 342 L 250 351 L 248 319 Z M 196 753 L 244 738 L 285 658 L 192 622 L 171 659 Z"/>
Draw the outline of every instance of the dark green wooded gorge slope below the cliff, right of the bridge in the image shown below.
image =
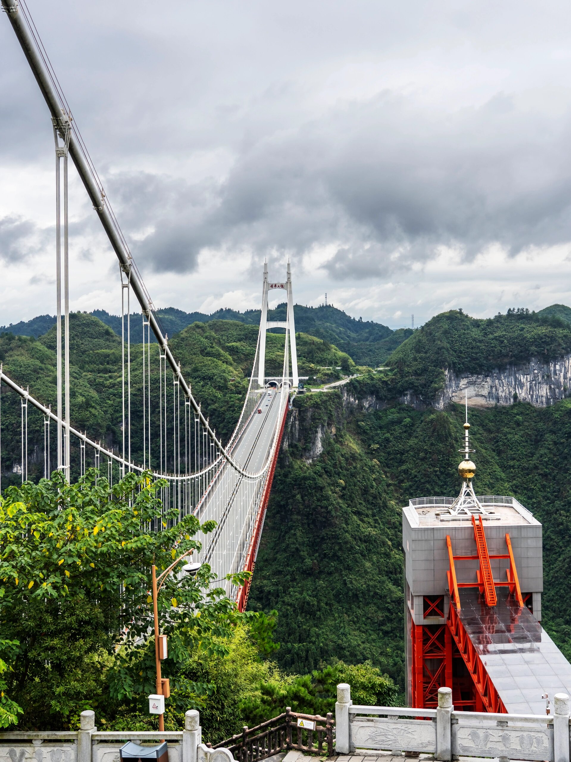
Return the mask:
<path id="1" fill-rule="evenodd" d="M 362 390 L 365 395 L 368 390 Z M 296 399 L 250 592 L 276 608 L 282 668 L 367 658 L 404 687 L 400 507 L 458 494 L 464 410 L 398 403 L 346 415 L 339 392 Z M 514 495 L 544 525 L 543 625 L 571 660 L 571 402 L 470 412 L 478 494 Z M 316 428 L 323 451 L 312 458 Z"/>

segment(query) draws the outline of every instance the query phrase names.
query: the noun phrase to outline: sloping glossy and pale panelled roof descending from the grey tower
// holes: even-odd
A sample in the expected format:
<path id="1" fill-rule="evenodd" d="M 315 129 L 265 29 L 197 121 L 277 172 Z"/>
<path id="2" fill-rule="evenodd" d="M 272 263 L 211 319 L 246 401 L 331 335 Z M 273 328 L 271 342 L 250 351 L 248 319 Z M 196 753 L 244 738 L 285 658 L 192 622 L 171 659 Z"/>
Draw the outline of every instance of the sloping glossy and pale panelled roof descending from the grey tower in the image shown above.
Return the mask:
<path id="1" fill-rule="evenodd" d="M 458 616 L 508 712 L 544 714 L 547 693 L 571 695 L 571 664 L 526 607 L 498 591 L 486 607 L 477 590 L 460 594 Z"/>

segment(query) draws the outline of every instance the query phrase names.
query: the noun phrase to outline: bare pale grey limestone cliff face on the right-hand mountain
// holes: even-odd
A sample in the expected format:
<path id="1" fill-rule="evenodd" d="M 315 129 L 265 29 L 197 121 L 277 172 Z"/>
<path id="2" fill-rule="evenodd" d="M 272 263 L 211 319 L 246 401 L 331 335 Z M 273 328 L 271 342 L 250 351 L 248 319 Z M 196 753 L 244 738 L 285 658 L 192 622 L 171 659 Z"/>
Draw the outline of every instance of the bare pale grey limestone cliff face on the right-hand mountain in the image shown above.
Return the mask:
<path id="1" fill-rule="evenodd" d="M 473 407 L 512 405 L 517 399 L 544 408 L 568 396 L 569 389 L 571 355 L 550 362 L 534 358 L 528 363 L 510 364 L 486 374 L 455 374 L 448 370 L 444 389 L 432 402 L 432 406 L 442 410 L 449 402 L 464 402 L 467 392 L 468 405 Z M 412 399 L 412 396 L 404 401 L 417 405 L 418 401 Z"/>

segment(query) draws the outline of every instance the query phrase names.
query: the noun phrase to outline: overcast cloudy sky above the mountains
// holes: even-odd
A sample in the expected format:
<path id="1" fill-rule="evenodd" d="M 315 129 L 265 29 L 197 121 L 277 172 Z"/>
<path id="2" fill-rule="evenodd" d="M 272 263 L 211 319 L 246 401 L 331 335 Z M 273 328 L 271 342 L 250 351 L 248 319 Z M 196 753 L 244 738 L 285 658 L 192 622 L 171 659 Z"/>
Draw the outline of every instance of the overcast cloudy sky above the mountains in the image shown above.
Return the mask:
<path id="1" fill-rule="evenodd" d="M 392 327 L 571 305 L 571 11 L 547 0 L 27 0 L 157 306 Z M 55 312 L 51 122 L 0 15 L 0 325 Z M 118 312 L 70 170 L 72 309 Z"/>

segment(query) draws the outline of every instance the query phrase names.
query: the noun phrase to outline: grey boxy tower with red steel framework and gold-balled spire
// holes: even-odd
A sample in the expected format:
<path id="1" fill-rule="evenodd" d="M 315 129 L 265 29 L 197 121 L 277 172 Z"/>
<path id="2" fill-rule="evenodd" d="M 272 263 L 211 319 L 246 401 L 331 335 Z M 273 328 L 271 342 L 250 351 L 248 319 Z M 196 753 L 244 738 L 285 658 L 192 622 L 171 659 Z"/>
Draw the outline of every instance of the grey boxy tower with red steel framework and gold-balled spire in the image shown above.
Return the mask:
<path id="1" fill-rule="evenodd" d="M 541 627 L 541 523 L 515 498 L 476 495 L 470 424 L 458 498 L 403 508 L 407 705 L 543 714 L 571 664 Z"/>

